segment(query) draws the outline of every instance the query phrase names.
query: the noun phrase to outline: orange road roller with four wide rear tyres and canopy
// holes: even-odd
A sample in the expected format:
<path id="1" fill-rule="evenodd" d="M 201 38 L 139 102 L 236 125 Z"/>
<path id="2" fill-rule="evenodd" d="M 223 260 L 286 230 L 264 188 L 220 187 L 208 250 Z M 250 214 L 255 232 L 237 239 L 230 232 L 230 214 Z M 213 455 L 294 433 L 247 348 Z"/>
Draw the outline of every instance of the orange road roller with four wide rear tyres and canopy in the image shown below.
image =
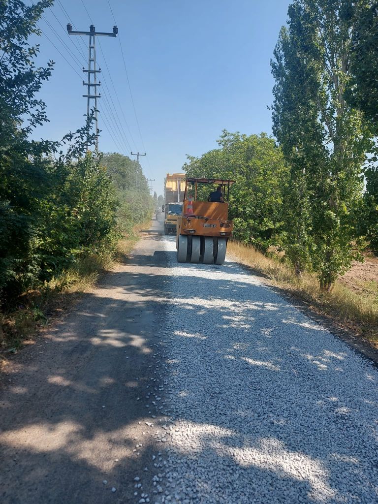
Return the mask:
<path id="1" fill-rule="evenodd" d="M 177 219 L 179 263 L 224 263 L 233 223 L 228 219 L 230 186 L 235 180 L 185 179 L 182 215 Z"/>

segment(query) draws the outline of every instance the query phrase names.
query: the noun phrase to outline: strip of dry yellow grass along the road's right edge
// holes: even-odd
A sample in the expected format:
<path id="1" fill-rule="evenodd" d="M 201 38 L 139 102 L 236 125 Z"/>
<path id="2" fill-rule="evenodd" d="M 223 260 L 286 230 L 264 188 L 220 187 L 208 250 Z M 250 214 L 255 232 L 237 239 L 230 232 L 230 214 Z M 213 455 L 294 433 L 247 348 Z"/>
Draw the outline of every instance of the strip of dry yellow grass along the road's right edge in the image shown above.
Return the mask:
<path id="1" fill-rule="evenodd" d="M 375 291 L 358 293 L 336 282 L 331 292 L 321 293 L 316 276 L 305 273 L 298 280 L 288 264 L 264 256 L 253 246 L 230 241 L 228 251 L 242 264 L 269 278 L 274 285 L 305 300 L 318 313 L 331 317 L 378 348 L 378 297 Z"/>

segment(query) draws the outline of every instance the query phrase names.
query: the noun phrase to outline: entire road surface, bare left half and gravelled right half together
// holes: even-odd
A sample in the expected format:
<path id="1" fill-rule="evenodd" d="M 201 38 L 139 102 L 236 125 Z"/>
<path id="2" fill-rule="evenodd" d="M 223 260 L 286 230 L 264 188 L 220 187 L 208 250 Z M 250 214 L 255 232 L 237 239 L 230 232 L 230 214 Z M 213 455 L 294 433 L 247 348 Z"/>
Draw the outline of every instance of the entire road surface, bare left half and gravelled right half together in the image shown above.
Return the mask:
<path id="1" fill-rule="evenodd" d="M 376 504 L 378 370 L 232 258 L 177 264 L 157 230 L 16 359 L 0 500 Z"/>

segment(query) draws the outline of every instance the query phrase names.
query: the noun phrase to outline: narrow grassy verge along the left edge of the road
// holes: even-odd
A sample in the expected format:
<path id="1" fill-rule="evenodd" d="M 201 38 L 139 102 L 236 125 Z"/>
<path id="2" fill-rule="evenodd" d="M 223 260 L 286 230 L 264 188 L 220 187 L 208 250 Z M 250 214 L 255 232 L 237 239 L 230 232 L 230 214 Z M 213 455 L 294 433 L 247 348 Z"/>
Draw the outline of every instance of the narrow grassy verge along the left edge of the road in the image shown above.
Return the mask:
<path id="1" fill-rule="evenodd" d="M 8 310 L 0 311 L 0 363 L 3 361 L 4 365 L 8 354 L 17 352 L 39 328 L 48 326 L 52 317 L 64 312 L 81 294 L 93 289 L 99 277 L 115 263 L 127 259 L 139 240 L 139 232 L 148 225 L 149 222 L 138 224 L 125 234 L 118 243 L 115 257 L 111 254 L 83 257 L 39 289 L 25 292 Z"/>

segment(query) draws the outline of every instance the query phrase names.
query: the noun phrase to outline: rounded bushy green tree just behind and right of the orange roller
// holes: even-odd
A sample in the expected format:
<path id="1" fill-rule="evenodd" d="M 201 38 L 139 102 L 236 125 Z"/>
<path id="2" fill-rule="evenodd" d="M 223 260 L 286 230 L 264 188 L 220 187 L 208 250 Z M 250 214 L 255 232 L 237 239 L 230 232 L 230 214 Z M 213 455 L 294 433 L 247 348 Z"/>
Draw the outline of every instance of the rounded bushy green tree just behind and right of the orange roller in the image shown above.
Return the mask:
<path id="1" fill-rule="evenodd" d="M 230 178 L 230 218 L 235 238 L 266 250 L 281 243 L 283 192 L 288 168 L 281 149 L 266 134 L 222 132 L 219 149 L 200 158 L 188 156 L 184 165 L 192 177 Z M 207 199 L 209 188 L 202 196 Z"/>

